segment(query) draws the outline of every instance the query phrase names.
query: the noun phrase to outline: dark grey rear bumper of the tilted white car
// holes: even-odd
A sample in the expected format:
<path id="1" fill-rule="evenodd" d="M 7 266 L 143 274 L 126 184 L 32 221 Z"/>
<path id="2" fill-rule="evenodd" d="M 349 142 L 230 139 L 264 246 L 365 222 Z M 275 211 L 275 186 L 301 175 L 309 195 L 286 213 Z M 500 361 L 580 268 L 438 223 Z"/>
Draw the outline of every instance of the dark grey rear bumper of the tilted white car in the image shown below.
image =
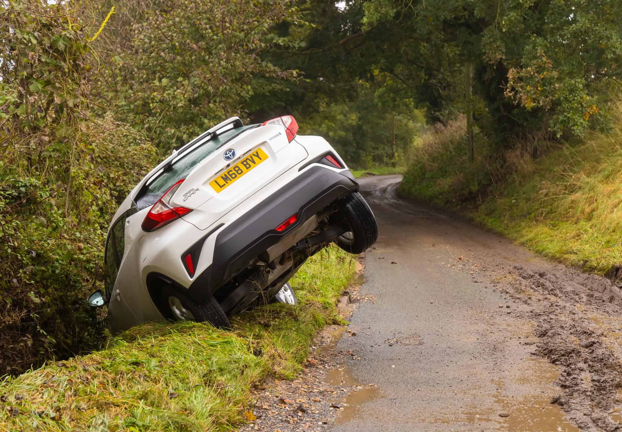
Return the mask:
<path id="1" fill-rule="evenodd" d="M 299 224 L 341 196 L 358 189 L 358 183 L 349 170 L 335 172 L 315 166 L 300 173 L 218 232 L 213 261 L 192 282 L 188 295 L 196 301 L 212 295 L 223 283 L 246 268 L 264 250 L 277 244 Z M 298 213 L 294 224 L 282 232 L 274 229 L 294 213 Z"/>

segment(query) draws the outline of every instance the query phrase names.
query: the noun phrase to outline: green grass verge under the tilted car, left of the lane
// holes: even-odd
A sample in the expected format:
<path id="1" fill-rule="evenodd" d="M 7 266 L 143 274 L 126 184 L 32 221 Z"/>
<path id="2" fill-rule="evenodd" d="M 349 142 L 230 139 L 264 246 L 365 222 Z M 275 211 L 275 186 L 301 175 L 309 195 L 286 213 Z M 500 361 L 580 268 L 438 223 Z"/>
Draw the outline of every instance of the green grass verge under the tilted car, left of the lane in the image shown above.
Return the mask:
<path id="1" fill-rule="evenodd" d="M 229 431 L 251 409 L 251 385 L 294 377 L 317 331 L 343 323 L 335 305 L 354 259 L 323 250 L 292 280 L 299 305 L 256 308 L 230 332 L 143 324 L 102 351 L 6 377 L 0 431 Z"/>

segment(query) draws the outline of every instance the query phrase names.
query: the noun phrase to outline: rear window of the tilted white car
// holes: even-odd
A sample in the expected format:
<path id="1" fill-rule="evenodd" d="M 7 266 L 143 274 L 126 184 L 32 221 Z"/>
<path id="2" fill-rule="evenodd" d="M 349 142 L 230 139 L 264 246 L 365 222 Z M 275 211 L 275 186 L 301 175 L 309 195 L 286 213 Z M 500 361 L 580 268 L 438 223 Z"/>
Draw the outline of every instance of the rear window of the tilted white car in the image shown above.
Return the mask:
<path id="1" fill-rule="evenodd" d="M 179 155 L 178 159 L 174 159 L 172 165 L 170 165 L 167 170 L 156 173 L 154 175 L 156 177 L 155 179 L 149 179 L 149 182 L 147 182 L 148 184 L 144 186 L 139 195 L 136 196 L 137 208 L 141 210 L 147 206 L 154 205 L 170 186 L 174 185 L 178 180 L 187 177 L 199 162 L 220 149 L 220 147 L 233 139 L 233 137 L 246 131 L 246 129 L 256 126 L 257 125 L 253 124 L 243 127 L 234 127 L 207 140 L 203 144 L 190 147 L 189 150 Z"/>

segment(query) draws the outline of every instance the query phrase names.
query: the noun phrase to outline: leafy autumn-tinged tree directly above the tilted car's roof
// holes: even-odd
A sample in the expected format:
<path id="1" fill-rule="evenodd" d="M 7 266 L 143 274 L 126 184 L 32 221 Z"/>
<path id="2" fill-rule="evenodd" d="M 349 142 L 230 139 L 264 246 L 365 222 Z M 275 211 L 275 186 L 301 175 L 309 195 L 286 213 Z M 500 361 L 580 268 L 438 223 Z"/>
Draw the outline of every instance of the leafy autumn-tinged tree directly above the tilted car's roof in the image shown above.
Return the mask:
<path id="1" fill-rule="evenodd" d="M 131 32 L 101 37 L 101 104 L 162 150 L 184 144 L 226 117 L 245 117 L 253 77 L 295 80 L 259 53 L 287 40 L 271 32 L 295 19 L 288 2 L 129 2 Z M 128 20 L 127 11 L 122 18 Z M 128 23 L 129 24 L 129 23 Z M 116 38 L 119 39 L 116 39 Z M 93 65 L 95 67 L 96 65 Z"/>

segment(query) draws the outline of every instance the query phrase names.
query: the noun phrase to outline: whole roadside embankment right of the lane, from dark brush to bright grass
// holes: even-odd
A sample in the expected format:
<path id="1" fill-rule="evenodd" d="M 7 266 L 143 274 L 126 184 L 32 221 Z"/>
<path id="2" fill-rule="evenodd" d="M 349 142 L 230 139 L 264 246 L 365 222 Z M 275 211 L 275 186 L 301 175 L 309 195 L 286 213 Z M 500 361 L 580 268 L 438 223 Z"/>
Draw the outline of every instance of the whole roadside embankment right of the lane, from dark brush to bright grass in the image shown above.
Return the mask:
<path id="1" fill-rule="evenodd" d="M 424 139 L 400 193 L 465 211 L 564 264 L 620 276 L 622 264 L 622 113 L 610 107 L 607 132 L 552 144 L 534 137 L 493 155 L 486 143 L 469 162 L 462 126 Z M 534 155 L 539 156 L 535 157 Z"/>

